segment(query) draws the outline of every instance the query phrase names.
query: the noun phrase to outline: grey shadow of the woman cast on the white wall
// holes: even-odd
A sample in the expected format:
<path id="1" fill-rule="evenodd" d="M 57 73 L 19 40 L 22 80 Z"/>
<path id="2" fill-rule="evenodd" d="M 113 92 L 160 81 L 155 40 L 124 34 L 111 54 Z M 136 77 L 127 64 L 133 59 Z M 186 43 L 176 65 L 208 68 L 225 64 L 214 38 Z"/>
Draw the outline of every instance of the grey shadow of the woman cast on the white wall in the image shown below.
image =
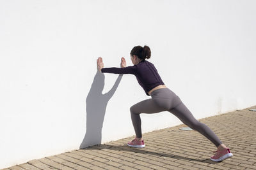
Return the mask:
<path id="1" fill-rule="evenodd" d="M 105 75 L 99 71 L 94 76 L 92 87 L 86 97 L 86 133 L 80 149 L 101 143 L 102 125 L 109 99 L 115 93 L 123 74 L 119 74 L 115 84 L 106 94 L 102 94 Z"/>

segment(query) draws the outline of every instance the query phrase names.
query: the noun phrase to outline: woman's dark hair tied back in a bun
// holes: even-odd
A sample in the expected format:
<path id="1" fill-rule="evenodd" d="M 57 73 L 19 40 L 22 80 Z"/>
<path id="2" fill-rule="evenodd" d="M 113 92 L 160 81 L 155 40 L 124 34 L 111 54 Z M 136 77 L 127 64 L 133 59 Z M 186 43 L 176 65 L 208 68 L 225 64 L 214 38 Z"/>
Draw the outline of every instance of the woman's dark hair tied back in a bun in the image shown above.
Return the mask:
<path id="1" fill-rule="evenodd" d="M 151 57 L 151 51 L 150 51 L 150 48 L 147 45 L 145 45 L 144 47 L 142 47 L 140 45 L 134 46 L 132 48 L 130 54 L 131 55 L 136 55 L 142 60 L 150 59 L 150 57 Z"/>

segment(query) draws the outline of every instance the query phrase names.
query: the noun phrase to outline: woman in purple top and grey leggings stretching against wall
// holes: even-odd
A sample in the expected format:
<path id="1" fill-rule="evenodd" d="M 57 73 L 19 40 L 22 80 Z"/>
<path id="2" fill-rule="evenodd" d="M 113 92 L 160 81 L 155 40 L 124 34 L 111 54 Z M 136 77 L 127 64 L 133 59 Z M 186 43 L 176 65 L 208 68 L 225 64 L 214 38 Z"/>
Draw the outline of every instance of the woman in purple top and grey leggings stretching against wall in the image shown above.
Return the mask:
<path id="1" fill-rule="evenodd" d="M 147 96 L 151 99 L 141 101 L 131 106 L 131 118 L 134 131 L 136 133 L 135 139 L 127 143 L 128 146 L 143 148 L 145 147 L 141 134 L 141 119 L 140 113 L 158 113 L 161 111 L 169 111 L 178 117 L 184 124 L 188 125 L 191 129 L 200 132 L 208 138 L 217 147 L 215 154 L 211 160 L 219 162 L 228 157 L 232 157 L 229 148 L 225 146 L 218 136 L 211 131 L 211 129 L 193 117 L 192 113 L 186 108 L 184 103 L 180 100 L 172 90 L 164 85 L 161 77 L 157 73 L 156 67 L 146 59 L 150 59 L 151 51 L 148 46 L 134 46 L 131 50 L 131 60 L 134 66 L 126 67 L 124 57 L 121 59 L 121 68 L 109 67 L 104 68 L 102 58 L 97 59 L 97 68 L 102 73 L 115 73 L 115 74 L 134 74 L 138 83 L 143 87 Z"/>

